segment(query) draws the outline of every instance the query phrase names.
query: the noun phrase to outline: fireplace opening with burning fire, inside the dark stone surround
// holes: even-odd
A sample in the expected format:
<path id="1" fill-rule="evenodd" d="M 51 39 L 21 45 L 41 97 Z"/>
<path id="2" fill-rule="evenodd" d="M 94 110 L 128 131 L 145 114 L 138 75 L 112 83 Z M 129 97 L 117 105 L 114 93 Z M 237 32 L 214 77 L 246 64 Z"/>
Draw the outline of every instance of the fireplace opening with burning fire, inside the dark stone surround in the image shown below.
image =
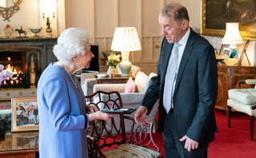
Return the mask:
<path id="1" fill-rule="evenodd" d="M 37 49 L 18 47 L 0 52 L 0 63 L 13 73 L 13 78 L 3 81 L 0 89 L 35 87 L 41 73 L 39 54 Z"/>

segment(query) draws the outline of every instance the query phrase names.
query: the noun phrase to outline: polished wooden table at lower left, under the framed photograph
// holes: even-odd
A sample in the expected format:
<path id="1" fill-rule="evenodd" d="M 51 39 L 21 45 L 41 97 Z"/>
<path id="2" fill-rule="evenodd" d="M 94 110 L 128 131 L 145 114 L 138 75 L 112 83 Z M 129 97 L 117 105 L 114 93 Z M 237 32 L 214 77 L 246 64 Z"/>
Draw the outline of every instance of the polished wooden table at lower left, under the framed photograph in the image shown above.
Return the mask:
<path id="1" fill-rule="evenodd" d="M 39 152 L 39 132 L 0 132 L 0 157 L 35 158 Z"/>

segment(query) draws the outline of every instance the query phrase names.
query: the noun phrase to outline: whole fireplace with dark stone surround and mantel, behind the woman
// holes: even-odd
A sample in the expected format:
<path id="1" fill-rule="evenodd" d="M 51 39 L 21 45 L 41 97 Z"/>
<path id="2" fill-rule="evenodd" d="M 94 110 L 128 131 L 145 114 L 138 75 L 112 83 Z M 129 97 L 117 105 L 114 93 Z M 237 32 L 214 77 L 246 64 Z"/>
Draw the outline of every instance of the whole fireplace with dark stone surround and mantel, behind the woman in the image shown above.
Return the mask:
<path id="1" fill-rule="evenodd" d="M 36 97 L 39 77 L 47 65 L 57 61 L 52 52 L 57 38 L 0 38 L 0 64 L 14 73 L 2 82 L 0 101 L 13 97 Z"/>

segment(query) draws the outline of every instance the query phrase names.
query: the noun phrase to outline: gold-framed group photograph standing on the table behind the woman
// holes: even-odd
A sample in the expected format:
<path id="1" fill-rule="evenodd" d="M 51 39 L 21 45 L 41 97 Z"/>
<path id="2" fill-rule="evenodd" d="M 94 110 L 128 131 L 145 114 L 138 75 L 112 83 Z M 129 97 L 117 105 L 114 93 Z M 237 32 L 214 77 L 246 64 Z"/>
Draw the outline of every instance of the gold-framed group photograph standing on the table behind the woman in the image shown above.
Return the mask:
<path id="1" fill-rule="evenodd" d="M 39 109 L 36 97 L 12 98 L 11 110 L 11 132 L 39 130 Z"/>

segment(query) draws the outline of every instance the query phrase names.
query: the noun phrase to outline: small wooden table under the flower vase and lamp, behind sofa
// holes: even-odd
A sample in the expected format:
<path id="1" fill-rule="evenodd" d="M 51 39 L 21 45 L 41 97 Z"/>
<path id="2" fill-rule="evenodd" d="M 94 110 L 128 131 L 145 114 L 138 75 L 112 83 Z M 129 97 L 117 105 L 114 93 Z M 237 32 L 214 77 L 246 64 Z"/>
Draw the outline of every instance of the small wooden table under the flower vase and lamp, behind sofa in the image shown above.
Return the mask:
<path id="1" fill-rule="evenodd" d="M 115 77 L 109 77 L 106 76 L 97 76 L 95 75 L 97 84 L 103 84 L 105 83 L 126 83 L 129 79 L 129 77 L 122 77 L 121 75 L 116 75 Z"/>

